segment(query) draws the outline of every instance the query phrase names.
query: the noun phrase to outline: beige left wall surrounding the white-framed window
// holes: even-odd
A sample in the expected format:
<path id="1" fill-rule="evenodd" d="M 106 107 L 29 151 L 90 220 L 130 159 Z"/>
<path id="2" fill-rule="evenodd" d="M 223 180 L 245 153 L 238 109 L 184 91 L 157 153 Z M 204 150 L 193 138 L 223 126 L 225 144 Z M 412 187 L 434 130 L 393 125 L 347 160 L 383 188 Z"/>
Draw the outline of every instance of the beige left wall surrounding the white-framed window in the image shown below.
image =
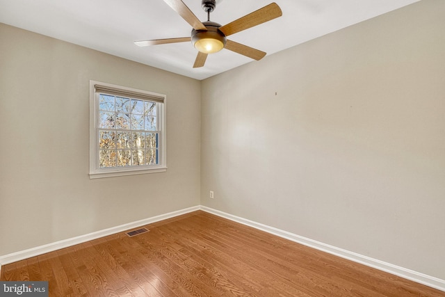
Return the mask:
<path id="1" fill-rule="evenodd" d="M 0 255 L 200 204 L 200 81 L 0 24 Z M 167 95 L 168 170 L 89 179 L 89 81 Z"/>

